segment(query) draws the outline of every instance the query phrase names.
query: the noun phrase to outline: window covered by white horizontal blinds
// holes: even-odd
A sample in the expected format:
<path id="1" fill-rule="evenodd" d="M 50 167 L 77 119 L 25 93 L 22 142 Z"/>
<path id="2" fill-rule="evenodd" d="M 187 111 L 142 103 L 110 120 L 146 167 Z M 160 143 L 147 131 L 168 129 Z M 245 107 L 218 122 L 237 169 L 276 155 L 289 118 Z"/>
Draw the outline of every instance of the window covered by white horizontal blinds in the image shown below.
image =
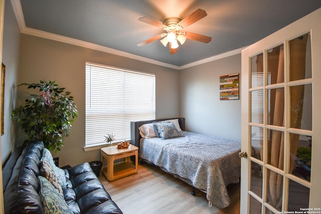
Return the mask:
<path id="1" fill-rule="evenodd" d="M 155 119 L 155 75 L 86 62 L 85 146 L 130 139 L 130 121 Z"/>

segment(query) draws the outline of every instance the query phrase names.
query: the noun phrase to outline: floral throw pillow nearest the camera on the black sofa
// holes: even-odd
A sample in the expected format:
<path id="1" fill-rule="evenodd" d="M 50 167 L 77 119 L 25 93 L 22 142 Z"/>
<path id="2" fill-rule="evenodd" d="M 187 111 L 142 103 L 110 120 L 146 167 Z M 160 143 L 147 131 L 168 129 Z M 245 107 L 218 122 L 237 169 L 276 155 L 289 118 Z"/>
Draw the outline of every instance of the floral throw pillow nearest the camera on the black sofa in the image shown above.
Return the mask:
<path id="1" fill-rule="evenodd" d="M 44 206 L 45 213 L 64 213 L 72 214 L 63 196 L 61 196 L 54 188 L 54 186 L 42 176 L 38 176 L 40 183 L 39 196 Z"/>

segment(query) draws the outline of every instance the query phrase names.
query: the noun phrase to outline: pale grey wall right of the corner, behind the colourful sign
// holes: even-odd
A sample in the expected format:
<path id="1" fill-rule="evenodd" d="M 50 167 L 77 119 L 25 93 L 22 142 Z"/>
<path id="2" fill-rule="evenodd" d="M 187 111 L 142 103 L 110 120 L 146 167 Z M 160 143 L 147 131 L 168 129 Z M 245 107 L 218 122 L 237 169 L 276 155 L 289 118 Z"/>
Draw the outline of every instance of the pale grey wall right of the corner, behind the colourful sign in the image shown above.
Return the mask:
<path id="1" fill-rule="evenodd" d="M 240 74 L 241 54 L 180 72 L 180 112 L 188 131 L 241 140 L 241 97 L 220 100 L 220 76 Z"/>

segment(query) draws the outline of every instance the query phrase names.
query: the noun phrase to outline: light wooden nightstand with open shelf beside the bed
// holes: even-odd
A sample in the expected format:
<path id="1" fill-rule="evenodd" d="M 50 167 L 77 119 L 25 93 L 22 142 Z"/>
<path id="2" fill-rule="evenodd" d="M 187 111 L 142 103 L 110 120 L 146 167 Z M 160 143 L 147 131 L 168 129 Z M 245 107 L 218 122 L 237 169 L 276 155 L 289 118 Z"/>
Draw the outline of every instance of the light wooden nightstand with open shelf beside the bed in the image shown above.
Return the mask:
<path id="1" fill-rule="evenodd" d="M 138 166 L 138 147 L 129 144 L 128 148 L 117 149 L 117 145 L 104 147 L 101 151 L 101 162 L 103 167 L 101 173 L 107 180 L 116 180 L 137 172 Z M 130 160 L 130 156 L 135 155 L 135 164 Z M 114 160 L 125 158 L 125 161 L 114 163 Z M 107 165 L 105 165 L 105 159 Z"/>

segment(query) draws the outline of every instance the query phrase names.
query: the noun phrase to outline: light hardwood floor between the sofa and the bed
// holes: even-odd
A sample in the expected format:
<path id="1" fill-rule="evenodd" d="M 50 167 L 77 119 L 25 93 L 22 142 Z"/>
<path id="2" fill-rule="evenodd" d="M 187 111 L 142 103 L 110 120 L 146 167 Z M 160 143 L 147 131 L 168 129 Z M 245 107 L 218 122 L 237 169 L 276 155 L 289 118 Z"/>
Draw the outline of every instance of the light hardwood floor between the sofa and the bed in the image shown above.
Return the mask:
<path id="1" fill-rule="evenodd" d="M 231 204 L 222 209 L 209 207 L 206 193 L 193 196 L 192 186 L 147 163 L 138 164 L 136 174 L 111 182 L 100 174 L 99 180 L 124 214 L 240 213 L 240 183 L 228 185 Z"/>

